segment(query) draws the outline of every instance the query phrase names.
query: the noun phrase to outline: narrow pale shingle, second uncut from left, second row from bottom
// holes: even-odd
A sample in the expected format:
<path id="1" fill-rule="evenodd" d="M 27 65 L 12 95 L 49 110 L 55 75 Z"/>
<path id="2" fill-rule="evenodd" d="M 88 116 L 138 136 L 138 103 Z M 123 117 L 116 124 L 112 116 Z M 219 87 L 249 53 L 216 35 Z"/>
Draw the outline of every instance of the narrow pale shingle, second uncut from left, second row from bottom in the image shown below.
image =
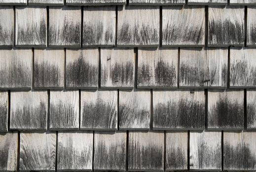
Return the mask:
<path id="1" fill-rule="evenodd" d="M 50 92 L 50 130 L 79 129 L 79 91 Z"/>

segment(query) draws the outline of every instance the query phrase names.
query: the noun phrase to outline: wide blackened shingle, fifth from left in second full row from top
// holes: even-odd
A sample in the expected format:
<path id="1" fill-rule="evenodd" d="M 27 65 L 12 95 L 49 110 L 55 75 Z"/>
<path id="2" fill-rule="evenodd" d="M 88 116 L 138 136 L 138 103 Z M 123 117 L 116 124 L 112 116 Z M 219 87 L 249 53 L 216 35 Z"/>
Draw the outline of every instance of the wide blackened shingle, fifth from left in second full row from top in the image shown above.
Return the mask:
<path id="1" fill-rule="evenodd" d="M 178 48 L 139 48 L 138 88 L 178 87 Z"/>

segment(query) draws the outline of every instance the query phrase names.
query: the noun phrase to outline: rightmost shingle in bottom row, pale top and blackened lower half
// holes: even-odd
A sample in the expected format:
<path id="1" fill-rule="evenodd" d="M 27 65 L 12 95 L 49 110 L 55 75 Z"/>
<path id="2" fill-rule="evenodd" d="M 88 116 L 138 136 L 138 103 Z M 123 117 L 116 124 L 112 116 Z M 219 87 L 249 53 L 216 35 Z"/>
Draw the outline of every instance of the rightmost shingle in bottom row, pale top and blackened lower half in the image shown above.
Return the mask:
<path id="1" fill-rule="evenodd" d="M 256 132 L 223 133 L 223 170 L 256 170 Z"/>

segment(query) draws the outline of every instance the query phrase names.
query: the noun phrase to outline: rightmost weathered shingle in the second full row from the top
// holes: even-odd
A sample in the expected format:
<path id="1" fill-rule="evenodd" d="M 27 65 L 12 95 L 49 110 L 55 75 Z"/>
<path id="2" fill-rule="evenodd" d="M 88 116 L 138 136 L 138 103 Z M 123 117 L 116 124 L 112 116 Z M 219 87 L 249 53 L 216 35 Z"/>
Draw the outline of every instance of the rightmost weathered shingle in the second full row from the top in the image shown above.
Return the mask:
<path id="1" fill-rule="evenodd" d="M 256 87 L 256 49 L 230 48 L 230 88 Z"/>

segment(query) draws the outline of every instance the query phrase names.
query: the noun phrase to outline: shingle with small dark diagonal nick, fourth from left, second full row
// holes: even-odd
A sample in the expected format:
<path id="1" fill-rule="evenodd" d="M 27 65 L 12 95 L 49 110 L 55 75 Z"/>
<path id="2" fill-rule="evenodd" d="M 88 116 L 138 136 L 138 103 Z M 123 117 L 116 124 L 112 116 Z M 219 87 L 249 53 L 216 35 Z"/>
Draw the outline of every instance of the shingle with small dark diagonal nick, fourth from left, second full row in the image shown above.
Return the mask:
<path id="1" fill-rule="evenodd" d="M 101 87 L 133 88 L 135 54 L 131 48 L 101 49 Z"/>

